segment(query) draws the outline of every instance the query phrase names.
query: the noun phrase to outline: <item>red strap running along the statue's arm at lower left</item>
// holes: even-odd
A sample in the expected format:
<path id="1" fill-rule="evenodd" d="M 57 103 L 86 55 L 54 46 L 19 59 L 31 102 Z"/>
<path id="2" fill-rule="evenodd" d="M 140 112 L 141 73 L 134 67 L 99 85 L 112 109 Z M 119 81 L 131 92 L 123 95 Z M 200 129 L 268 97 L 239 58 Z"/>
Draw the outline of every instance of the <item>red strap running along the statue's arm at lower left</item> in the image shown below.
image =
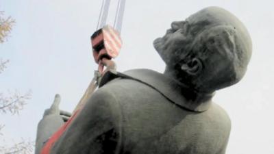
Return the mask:
<path id="1" fill-rule="evenodd" d="M 66 123 L 64 123 L 64 125 L 62 125 L 62 127 L 60 127 L 60 129 L 58 129 L 58 131 L 53 133 L 51 138 L 49 138 L 49 140 L 47 141 L 45 146 L 42 148 L 42 151 L 40 154 L 49 154 L 51 152 L 51 146 L 53 146 L 53 144 L 60 138 L 60 136 L 62 136 L 62 133 L 64 133 L 64 131 L 66 131 L 66 128 L 71 124 L 71 121 L 75 118 L 78 111 L 79 110 L 77 110 L 75 112 L 75 114 L 73 114 L 73 116 L 71 116 L 71 118 Z"/>

